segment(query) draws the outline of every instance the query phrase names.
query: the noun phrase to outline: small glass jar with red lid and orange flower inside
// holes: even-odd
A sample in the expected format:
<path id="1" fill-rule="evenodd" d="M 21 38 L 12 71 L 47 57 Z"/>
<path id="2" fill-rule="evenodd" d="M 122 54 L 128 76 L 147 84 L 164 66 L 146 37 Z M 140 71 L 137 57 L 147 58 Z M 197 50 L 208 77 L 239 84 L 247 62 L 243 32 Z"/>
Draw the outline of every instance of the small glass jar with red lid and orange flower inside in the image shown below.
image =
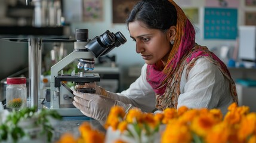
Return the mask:
<path id="1" fill-rule="evenodd" d="M 6 103 L 8 109 L 27 107 L 26 77 L 7 77 Z"/>

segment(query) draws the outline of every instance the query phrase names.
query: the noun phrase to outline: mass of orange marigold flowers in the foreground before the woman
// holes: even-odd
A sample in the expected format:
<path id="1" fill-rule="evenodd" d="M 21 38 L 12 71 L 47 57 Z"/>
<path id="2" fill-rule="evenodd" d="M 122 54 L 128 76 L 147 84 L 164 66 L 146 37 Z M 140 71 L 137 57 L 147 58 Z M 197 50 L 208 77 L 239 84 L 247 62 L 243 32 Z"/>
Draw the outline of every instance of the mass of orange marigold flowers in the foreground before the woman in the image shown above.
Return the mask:
<path id="1" fill-rule="evenodd" d="M 228 107 L 226 116 L 217 108 L 166 108 L 155 114 L 132 108 L 125 114 L 123 108 L 115 106 L 105 128 L 104 140 L 98 142 L 255 143 L 256 113 L 235 103 Z M 80 131 L 81 136 L 91 134 Z"/>

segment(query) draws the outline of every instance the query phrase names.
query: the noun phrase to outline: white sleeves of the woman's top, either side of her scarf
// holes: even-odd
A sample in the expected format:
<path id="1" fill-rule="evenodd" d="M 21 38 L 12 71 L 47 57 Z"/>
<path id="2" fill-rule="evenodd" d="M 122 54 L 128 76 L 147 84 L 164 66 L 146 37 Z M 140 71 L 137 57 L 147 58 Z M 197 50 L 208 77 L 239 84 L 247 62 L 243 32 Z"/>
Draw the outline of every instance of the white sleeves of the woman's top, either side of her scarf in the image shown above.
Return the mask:
<path id="1" fill-rule="evenodd" d="M 129 88 L 118 95 L 119 100 L 141 108 L 142 111 L 155 109 L 155 92 L 146 80 L 147 64 L 141 69 L 141 76 Z M 217 66 L 199 58 L 186 79 L 186 69 L 182 73 L 180 96 L 177 108 L 186 105 L 189 108 L 220 108 L 226 114 L 227 107 L 233 102 L 229 80 L 223 76 Z M 124 98 L 122 98 L 124 96 Z"/>

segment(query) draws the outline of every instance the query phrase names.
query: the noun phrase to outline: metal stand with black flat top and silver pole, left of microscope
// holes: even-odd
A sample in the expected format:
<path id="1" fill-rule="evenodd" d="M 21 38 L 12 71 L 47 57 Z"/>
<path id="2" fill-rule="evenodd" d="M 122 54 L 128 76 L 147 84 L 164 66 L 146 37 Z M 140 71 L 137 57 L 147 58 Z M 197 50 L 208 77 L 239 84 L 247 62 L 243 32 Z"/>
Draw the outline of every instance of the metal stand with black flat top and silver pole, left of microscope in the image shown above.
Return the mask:
<path id="1" fill-rule="evenodd" d="M 63 27 L 0 27 L 0 38 L 13 42 L 28 42 L 29 97 L 31 107 L 38 107 L 39 76 L 41 74 L 42 42 L 74 42 L 63 36 Z M 21 36 L 20 36 L 21 35 Z"/>

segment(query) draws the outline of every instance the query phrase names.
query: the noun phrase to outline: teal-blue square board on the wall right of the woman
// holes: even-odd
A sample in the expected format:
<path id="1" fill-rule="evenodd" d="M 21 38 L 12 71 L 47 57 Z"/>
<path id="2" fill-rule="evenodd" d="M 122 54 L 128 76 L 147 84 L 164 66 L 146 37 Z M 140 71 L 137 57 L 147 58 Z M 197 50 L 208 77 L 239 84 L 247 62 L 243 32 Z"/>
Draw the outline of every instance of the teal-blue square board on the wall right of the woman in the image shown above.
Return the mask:
<path id="1" fill-rule="evenodd" d="M 236 8 L 205 8 L 205 39 L 236 39 L 238 10 Z"/>

